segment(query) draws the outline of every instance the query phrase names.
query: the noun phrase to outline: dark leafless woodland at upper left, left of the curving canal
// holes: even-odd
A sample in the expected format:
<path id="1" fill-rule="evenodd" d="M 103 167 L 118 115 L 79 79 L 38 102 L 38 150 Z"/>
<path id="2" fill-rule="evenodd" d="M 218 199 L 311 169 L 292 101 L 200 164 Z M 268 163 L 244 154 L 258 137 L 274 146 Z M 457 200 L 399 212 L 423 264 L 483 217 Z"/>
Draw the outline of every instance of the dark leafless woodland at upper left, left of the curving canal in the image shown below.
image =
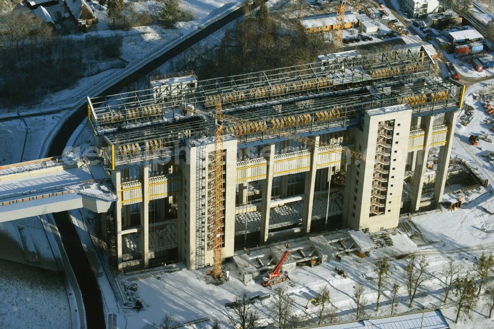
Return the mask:
<path id="1" fill-rule="evenodd" d="M 111 68 L 119 59 L 122 37 L 51 38 L 0 47 L 0 107 L 36 104 L 46 94 Z"/>

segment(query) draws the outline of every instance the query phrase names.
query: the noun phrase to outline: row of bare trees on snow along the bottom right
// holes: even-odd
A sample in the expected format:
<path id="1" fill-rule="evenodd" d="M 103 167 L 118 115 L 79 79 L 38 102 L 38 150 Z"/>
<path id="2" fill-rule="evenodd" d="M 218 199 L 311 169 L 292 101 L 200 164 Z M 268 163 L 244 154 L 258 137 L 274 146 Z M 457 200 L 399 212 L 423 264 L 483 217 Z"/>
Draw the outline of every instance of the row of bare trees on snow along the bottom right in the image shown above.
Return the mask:
<path id="1" fill-rule="evenodd" d="M 374 263 L 374 272 L 376 273 L 376 307 L 379 311 L 382 303 L 381 299 L 385 291 L 389 291 L 389 301 L 391 305 L 390 313 L 393 315 L 396 311 L 397 297 L 400 284 L 390 280 L 391 265 L 387 258 L 383 258 Z M 471 270 L 462 269 L 453 258 L 448 259 L 445 268 L 434 275 L 430 271 L 430 265 L 425 256 L 418 257 L 411 254 L 406 259 L 405 267 L 399 273 L 403 280 L 409 297 L 409 308 L 413 307 L 414 299 L 417 292 L 421 290 L 424 284 L 434 277 L 441 281 L 441 287 L 444 290 L 443 303 L 448 303 L 456 311 L 455 322 L 458 323 L 462 315 L 471 317 L 470 311 L 477 305 L 482 296 L 485 296 L 484 309 L 489 311 L 489 318 L 492 318 L 494 310 L 494 282 L 491 280 L 491 274 L 494 270 L 493 254 L 485 254 L 475 258 Z M 368 307 L 369 299 L 367 298 L 366 285 L 362 282 L 356 283 L 353 287 L 352 309 L 355 320 L 365 319 L 369 316 Z M 290 297 L 287 289 L 278 287 L 266 307 L 265 314 L 275 321 L 279 329 L 300 328 L 311 325 L 322 325 L 336 322 L 336 308 L 331 303 L 330 290 L 327 284 L 321 286 L 314 299 L 315 307 L 311 307 L 303 315 L 296 313 L 295 301 Z M 230 312 L 230 326 L 236 329 L 254 329 L 258 328 L 261 314 L 253 307 L 253 304 L 247 298 L 247 292 L 242 291 L 235 297 L 235 305 Z M 174 328 L 176 321 L 170 316 L 166 316 L 160 328 Z M 219 323 L 215 322 L 212 328 L 219 328 Z"/>

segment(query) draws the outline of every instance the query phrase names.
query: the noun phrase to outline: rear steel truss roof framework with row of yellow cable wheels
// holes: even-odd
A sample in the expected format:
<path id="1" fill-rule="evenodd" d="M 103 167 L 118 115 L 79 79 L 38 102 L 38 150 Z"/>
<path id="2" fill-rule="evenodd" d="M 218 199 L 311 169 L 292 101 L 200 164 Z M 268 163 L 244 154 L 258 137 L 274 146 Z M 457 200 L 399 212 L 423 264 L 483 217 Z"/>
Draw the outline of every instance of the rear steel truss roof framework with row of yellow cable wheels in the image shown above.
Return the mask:
<path id="1" fill-rule="evenodd" d="M 431 62 L 422 47 L 329 58 L 310 63 L 244 75 L 197 82 L 197 87 L 178 95 L 154 98 L 153 89 L 88 99 L 88 117 L 96 133 L 168 123 L 166 111 L 191 105 L 213 112 L 215 97 L 221 98 L 224 113 L 265 101 L 318 97 L 348 88 L 390 79 L 404 80 L 429 73 Z M 191 91 L 193 90 L 193 91 Z M 285 100 L 285 101 L 284 101 Z M 211 107 L 209 109 L 209 107 Z"/>

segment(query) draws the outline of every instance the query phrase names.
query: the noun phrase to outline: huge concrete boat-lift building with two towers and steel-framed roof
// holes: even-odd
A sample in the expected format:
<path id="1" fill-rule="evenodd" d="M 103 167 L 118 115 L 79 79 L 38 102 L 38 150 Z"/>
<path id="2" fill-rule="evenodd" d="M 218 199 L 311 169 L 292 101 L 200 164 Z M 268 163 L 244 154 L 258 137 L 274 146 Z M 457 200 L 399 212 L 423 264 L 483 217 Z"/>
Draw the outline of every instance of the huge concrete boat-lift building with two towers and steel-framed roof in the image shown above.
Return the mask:
<path id="1" fill-rule="evenodd" d="M 430 76 L 431 65 L 412 46 L 204 81 L 161 76 L 151 89 L 88 98 L 94 144 L 118 197 L 100 220 L 115 265 L 212 264 L 217 124 L 224 258 L 335 228 L 394 228 L 400 213 L 437 207 L 464 86 Z"/>

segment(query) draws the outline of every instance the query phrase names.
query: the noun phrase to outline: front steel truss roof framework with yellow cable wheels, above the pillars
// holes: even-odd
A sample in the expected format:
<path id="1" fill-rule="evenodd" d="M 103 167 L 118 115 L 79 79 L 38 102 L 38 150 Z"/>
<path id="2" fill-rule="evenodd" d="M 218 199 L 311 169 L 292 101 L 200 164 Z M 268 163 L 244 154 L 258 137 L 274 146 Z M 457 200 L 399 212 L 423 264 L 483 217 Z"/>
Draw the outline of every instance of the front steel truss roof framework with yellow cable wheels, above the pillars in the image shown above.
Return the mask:
<path id="1" fill-rule="evenodd" d="M 290 123 L 283 126 L 284 132 L 310 135 L 316 131 L 335 127 L 355 126 L 362 122 L 366 110 L 397 104 L 409 104 L 414 117 L 453 111 L 460 106 L 463 92 L 464 87 L 458 82 L 435 80 L 429 77 L 372 83 L 369 86 L 346 90 L 342 92 L 343 94 L 324 96 L 323 93 L 317 98 L 304 102 L 287 102 L 278 106 L 261 103 L 256 107 L 232 110 L 229 116 L 257 125 L 249 130 L 248 127 L 239 127 L 238 124 L 225 120 L 224 127 L 225 132 L 235 136 L 241 144 L 263 142 L 273 138 L 286 139 L 277 133 L 279 129 L 274 129 L 280 128 L 275 126 L 277 122 Z M 328 114 L 323 116 L 322 113 L 325 112 Z M 287 121 L 287 118 L 293 120 Z M 306 120 L 298 120 L 298 118 Z M 255 127 L 265 127 L 265 129 L 256 130 Z M 211 137 L 213 134 L 213 118 L 199 116 L 175 123 L 112 132 L 105 135 L 107 144 L 105 156 L 107 164 L 112 164 L 113 167 L 163 161 L 177 156 L 180 146 L 192 144 L 194 140 Z M 150 141 L 159 141 L 159 147 L 149 147 Z M 128 152 L 121 152 L 121 147 L 125 145 L 133 145 L 133 147 Z"/>

